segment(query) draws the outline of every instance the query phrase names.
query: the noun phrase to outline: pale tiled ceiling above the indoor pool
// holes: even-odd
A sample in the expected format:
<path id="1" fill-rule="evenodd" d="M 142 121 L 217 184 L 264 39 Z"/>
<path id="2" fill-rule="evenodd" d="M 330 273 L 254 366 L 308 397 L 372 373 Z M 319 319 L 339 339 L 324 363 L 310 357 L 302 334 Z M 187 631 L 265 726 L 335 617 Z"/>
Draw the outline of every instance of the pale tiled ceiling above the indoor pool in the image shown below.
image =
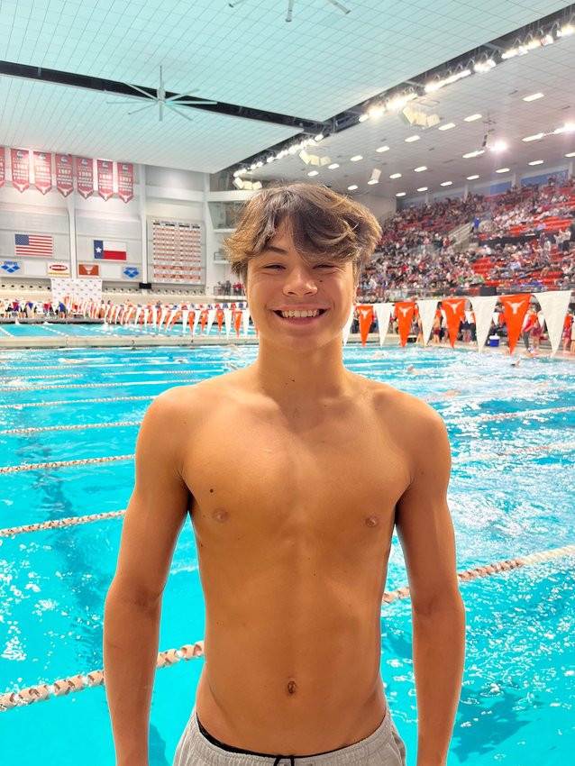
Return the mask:
<path id="1" fill-rule="evenodd" d="M 349 14 L 329 0 L 295 0 L 293 20 L 286 23 L 288 0 L 235 0 L 234 7 L 227 0 L 2 0 L 0 72 L 18 65 L 35 73 L 33 79 L 0 75 L 0 144 L 215 173 L 297 136 L 298 120 L 328 121 L 568 7 L 550 0 L 341 2 Z M 417 131 L 394 114 L 330 136 L 318 151 L 340 168 L 322 170 L 315 180 L 391 196 L 456 183 L 471 173 L 523 168 L 529 160 L 556 161 L 575 150 L 573 134 L 529 144 L 520 138 L 575 121 L 574 61 L 575 37 L 564 38 L 443 88 L 419 105 L 456 127 L 420 131 L 414 143 L 405 138 Z M 155 89 L 160 65 L 169 92 L 193 91 L 234 110 L 180 107 L 192 122 L 172 110 L 160 122 L 156 105 L 128 114 L 146 105 L 143 99 L 42 80 L 52 69 Z M 522 100 L 536 90 L 545 97 Z M 290 120 L 247 119 L 237 107 L 251 110 L 245 112 L 250 117 L 261 110 Z M 484 128 L 483 120 L 462 122 L 473 113 L 492 123 Z M 487 129 L 508 141 L 507 154 L 462 160 L 461 154 L 479 148 Z M 379 154 L 382 144 L 389 150 Z M 364 159 L 351 162 L 356 154 Z M 414 173 L 421 165 L 429 169 Z M 381 169 L 380 182 L 368 187 L 373 168 Z M 307 179 L 308 171 L 297 156 L 288 157 L 254 178 Z M 390 180 L 395 172 L 402 178 Z"/>

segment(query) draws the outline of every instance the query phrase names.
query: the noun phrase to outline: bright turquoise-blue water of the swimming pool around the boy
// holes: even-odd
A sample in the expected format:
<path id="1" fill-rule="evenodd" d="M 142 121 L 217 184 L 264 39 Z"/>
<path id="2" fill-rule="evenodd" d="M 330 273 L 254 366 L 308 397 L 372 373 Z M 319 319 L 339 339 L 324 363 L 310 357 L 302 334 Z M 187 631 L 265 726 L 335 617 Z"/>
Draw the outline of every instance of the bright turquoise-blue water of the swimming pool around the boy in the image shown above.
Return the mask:
<path id="1" fill-rule="evenodd" d="M 256 353 L 253 347 L 5 352 L 0 464 L 130 456 L 151 397 L 174 380 L 219 375 L 227 362 L 242 366 Z M 345 362 L 423 397 L 443 415 L 452 442 L 450 506 L 460 570 L 575 543 L 572 365 L 525 360 L 514 369 L 498 354 L 373 347 L 346 349 Z M 407 364 L 416 374 L 406 372 Z M 94 399 L 112 401 L 84 401 Z M 5 433 L 64 424 L 114 425 Z M 0 528 L 123 509 L 132 481 L 129 457 L 0 475 Z M 0 538 L 0 693 L 102 667 L 104 599 L 121 525 L 111 519 Z M 449 766 L 572 762 L 574 563 L 567 557 L 461 585 L 468 653 Z M 405 583 L 394 540 L 387 589 Z M 187 526 L 164 597 L 160 649 L 193 643 L 204 627 L 196 546 Z M 415 766 L 408 601 L 383 607 L 381 633 L 389 704 L 408 764 Z M 171 763 L 202 662 L 179 662 L 157 674 L 151 766 Z M 68 764 L 79 757 L 90 766 L 114 764 L 104 690 L 0 714 L 0 762 L 36 760 L 39 752 L 42 762 Z"/>

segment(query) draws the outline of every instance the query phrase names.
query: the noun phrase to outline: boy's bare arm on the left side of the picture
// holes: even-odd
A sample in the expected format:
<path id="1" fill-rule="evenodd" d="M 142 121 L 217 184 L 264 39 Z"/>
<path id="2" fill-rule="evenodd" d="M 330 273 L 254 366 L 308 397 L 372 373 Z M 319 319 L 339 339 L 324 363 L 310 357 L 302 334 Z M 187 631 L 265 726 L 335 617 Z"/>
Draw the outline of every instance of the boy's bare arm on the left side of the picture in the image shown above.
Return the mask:
<path id="1" fill-rule="evenodd" d="M 105 601 L 105 686 L 117 766 L 148 766 L 161 595 L 188 507 L 180 476 L 178 389 L 154 400 L 136 445 L 136 481 Z"/>

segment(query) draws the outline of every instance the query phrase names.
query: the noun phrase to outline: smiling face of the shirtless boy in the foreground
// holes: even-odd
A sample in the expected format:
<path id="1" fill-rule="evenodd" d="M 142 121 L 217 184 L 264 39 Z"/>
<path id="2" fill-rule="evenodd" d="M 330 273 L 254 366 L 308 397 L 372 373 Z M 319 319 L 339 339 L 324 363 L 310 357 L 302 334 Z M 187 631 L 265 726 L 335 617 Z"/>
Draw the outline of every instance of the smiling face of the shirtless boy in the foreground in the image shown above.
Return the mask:
<path id="1" fill-rule="evenodd" d="M 341 339 L 355 288 L 351 261 L 315 253 L 304 259 L 287 222 L 248 262 L 246 296 L 260 336 L 294 350 Z"/>

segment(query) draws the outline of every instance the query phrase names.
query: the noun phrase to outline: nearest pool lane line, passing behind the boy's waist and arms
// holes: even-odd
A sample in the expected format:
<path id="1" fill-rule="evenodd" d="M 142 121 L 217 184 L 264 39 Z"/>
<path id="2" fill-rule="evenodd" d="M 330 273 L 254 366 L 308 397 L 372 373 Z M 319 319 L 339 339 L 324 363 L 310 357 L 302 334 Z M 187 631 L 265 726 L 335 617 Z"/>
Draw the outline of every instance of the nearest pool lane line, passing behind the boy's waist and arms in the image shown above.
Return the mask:
<path id="1" fill-rule="evenodd" d="M 565 545 L 563 548 L 553 548 L 550 551 L 530 553 L 527 556 L 519 556 L 516 559 L 508 561 L 499 561 L 494 564 L 476 567 L 474 570 L 458 572 L 457 577 L 461 582 L 466 582 L 480 577 L 498 574 L 503 571 L 516 570 L 530 564 L 539 564 L 543 561 L 552 561 L 560 559 L 563 556 L 575 555 L 575 545 Z M 390 592 L 385 592 L 382 599 L 382 606 L 392 603 L 397 599 L 408 598 L 410 596 L 409 588 L 397 588 Z M 203 657 L 205 652 L 204 640 L 196 643 L 186 643 L 179 649 L 167 649 L 159 652 L 156 667 L 169 668 L 180 660 L 193 660 L 196 657 Z M 52 684 L 40 684 L 28 688 L 16 689 L 5 692 L 0 695 L 0 712 L 7 712 L 14 707 L 24 707 L 32 705 L 33 702 L 39 702 L 51 697 L 64 697 L 68 694 L 75 694 L 83 691 L 85 688 L 94 688 L 96 686 L 105 686 L 104 670 L 91 670 L 86 675 L 78 673 L 75 676 L 69 676 L 66 679 L 58 679 Z"/>

